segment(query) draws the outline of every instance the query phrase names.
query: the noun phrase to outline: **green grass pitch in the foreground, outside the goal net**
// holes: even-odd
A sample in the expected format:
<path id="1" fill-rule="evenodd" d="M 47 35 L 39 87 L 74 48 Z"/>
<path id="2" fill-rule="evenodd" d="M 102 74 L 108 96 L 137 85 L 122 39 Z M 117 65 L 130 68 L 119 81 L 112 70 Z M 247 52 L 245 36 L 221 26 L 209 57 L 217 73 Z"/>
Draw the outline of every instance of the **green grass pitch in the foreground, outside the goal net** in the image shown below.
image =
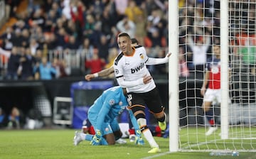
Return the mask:
<path id="1" fill-rule="evenodd" d="M 0 158 L 256 158 L 256 153 L 240 153 L 240 156 L 210 156 L 209 152 L 169 153 L 169 138 L 155 137 L 161 153 L 149 154 L 148 143 L 135 146 L 127 144 L 114 146 L 90 146 L 83 141 L 73 146 L 73 129 L 58 130 L 1 130 Z M 182 140 L 183 141 L 183 140 Z"/>

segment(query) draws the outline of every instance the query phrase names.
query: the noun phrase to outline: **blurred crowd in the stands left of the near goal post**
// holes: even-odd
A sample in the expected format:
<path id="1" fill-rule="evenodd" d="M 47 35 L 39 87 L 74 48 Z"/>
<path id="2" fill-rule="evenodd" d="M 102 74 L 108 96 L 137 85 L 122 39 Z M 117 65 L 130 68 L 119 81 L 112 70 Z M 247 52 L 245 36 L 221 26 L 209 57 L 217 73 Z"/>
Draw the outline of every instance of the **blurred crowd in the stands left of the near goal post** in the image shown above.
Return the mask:
<path id="1" fill-rule="evenodd" d="M 61 55 L 50 58 L 51 50 L 83 50 L 83 73 L 100 71 L 110 67 L 119 53 L 116 39 L 120 32 L 137 38 L 149 48 L 149 56 L 163 57 L 168 40 L 167 13 L 168 1 L 30 0 L 28 9 L 11 14 L 17 22 L 1 35 L 0 54 L 6 57 L 2 63 L 8 63 L 2 68 L 2 77 L 53 79 L 72 75 L 73 66 Z M 166 65 L 158 67 L 151 67 L 151 71 L 167 74 Z"/>

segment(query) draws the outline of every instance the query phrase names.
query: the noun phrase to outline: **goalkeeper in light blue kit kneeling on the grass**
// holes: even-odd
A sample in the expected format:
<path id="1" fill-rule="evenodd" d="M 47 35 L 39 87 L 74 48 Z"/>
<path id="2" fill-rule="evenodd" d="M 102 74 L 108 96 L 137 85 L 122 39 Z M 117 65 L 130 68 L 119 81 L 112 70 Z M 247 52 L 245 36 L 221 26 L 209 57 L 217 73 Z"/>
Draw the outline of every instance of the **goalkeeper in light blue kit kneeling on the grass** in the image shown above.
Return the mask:
<path id="1" fill-rule="evenodd" d="M 90 141 L 92 146 L 97 145 L 114 145 L 122 137 L 117 116 L 128 106 L 126 89 L 122 87 L 111 87 L 105 90 L 98 97 L 94 104 L 88 110 L 88 119 L 92 124 L 95 135 L 75 132 L 74 145 L 78 146 L 81 141 Z M 139 125 L 132 112 L 129 115 L 135 129 L 139 130 Z M 136 143 L 144 145 L 140 131 L 136 133 Z"/>

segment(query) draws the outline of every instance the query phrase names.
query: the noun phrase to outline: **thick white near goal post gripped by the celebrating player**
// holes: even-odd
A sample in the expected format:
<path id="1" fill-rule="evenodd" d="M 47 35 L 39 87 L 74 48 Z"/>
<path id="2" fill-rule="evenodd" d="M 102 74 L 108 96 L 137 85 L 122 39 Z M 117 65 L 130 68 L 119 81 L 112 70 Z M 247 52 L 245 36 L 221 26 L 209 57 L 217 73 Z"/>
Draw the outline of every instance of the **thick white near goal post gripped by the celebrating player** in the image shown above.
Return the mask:
<path id="1" fill-rule="evenodd" d="M 171 22 L 171 24 L 170 24 Z M 178 0 L 169 1 L 169 150 L 178 150 Z"/>

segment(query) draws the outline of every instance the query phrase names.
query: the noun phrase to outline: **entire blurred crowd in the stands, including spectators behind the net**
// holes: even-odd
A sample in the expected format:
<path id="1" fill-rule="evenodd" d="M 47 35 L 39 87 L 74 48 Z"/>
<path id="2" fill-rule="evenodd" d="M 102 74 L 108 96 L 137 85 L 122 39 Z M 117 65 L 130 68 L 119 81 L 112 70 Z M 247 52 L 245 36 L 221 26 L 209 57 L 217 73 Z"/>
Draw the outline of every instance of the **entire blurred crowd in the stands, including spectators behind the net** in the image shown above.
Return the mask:
<path id="1" fill-rule="evenodd" d="M 17 21 L 0 37 L 1 64 L 7 64 L 1 65 L 4 79 L 72 76 L 72 62 L 63 58 L 68 53 L 85 53 L 81 75 L 98 72 L 110 67 L 119 53 L 120 32 L 137 38 L 149 57 L 164 57 L 168 50 L 167 0 L 29 0 L 27 9 L 17 14 L 20 3 L 6 1 L 9 16 Z M 220 43 L 220 1 L 180 0 L 178 5 L 179 74 L 188 77 L 203 72 L 211 46 Z M 230 53 L 254 68 L 255 3 L 230 1 L 229 7 Z M 168 66 L 149 70 L 167 75 Z"/>

